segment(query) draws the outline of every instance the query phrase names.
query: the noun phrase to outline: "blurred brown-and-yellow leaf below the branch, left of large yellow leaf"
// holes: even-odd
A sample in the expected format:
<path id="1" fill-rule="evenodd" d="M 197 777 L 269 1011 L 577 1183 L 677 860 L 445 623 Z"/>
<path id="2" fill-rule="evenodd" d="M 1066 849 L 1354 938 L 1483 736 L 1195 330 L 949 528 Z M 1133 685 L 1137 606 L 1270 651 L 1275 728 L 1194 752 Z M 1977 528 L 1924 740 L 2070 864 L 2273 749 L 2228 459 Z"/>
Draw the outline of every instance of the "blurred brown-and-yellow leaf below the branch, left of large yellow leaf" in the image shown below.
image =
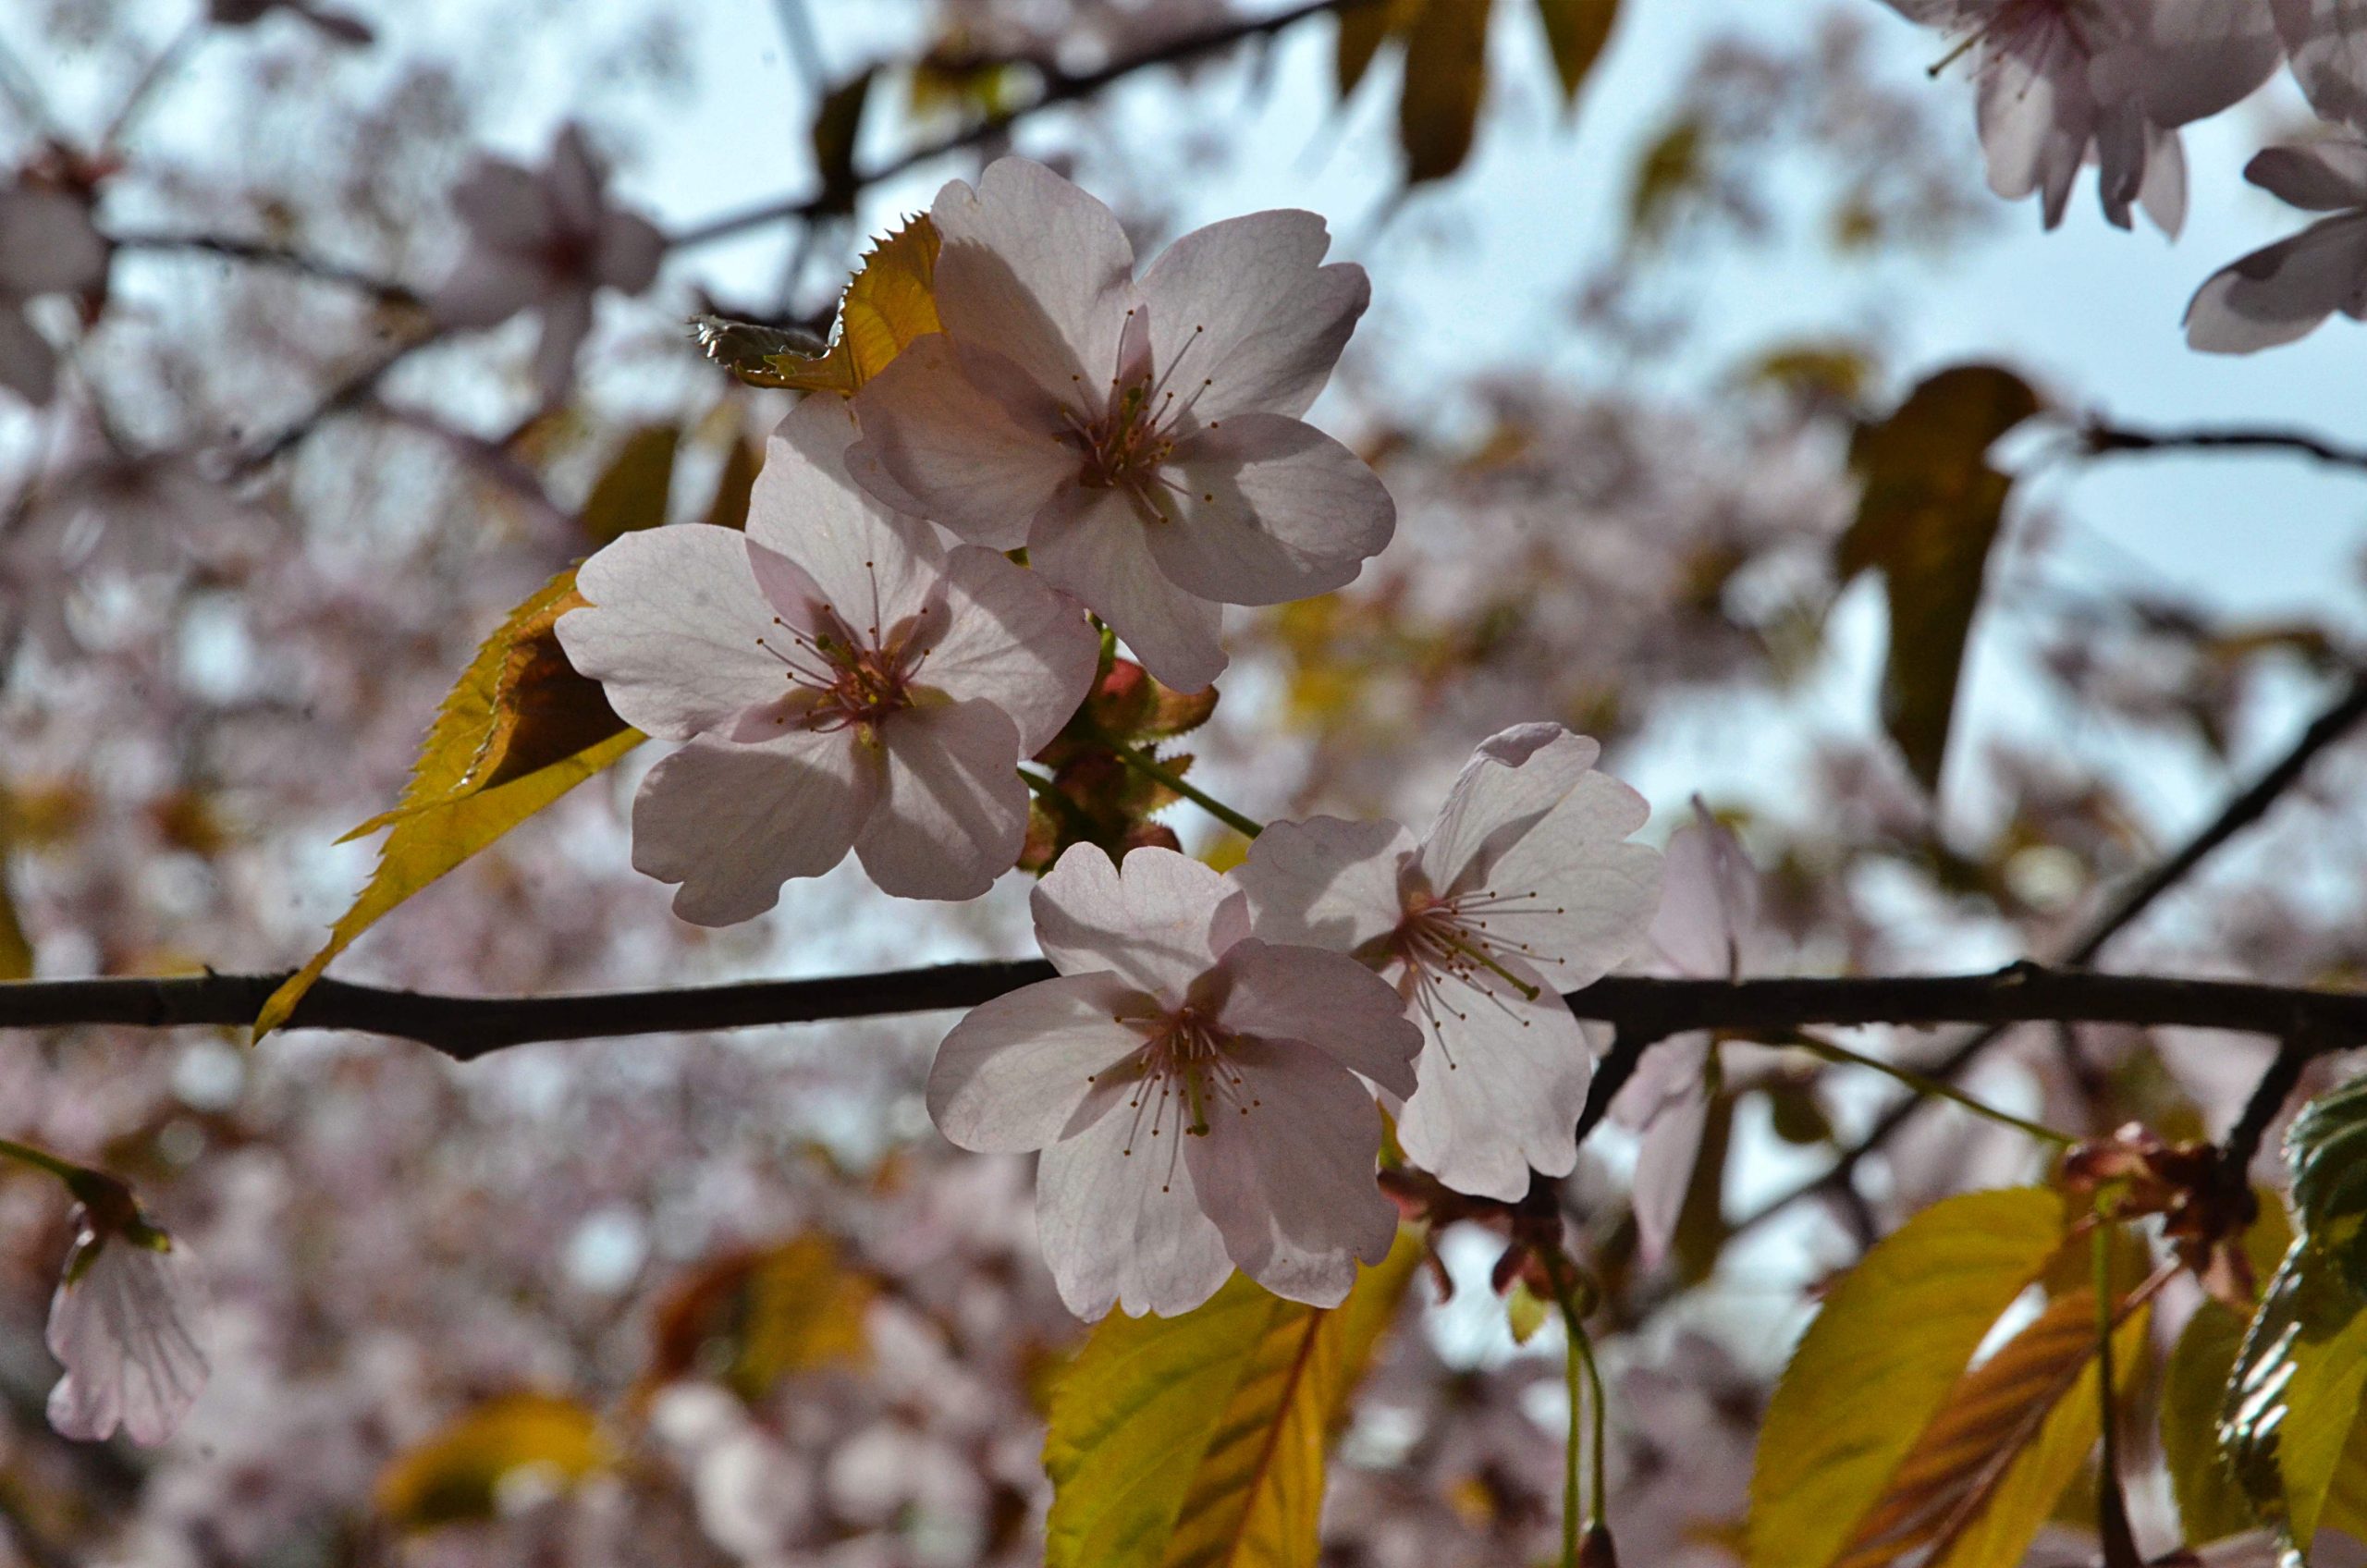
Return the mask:
<path id="1" fill-rule="evenodd" d="M 878 1284 L 850 1270 L 831 1236 L 731 1253 L 658 1307 L 651 1381 L 712 1376 L 748 1402 L 814 1367 L 864 1362 Z"/>

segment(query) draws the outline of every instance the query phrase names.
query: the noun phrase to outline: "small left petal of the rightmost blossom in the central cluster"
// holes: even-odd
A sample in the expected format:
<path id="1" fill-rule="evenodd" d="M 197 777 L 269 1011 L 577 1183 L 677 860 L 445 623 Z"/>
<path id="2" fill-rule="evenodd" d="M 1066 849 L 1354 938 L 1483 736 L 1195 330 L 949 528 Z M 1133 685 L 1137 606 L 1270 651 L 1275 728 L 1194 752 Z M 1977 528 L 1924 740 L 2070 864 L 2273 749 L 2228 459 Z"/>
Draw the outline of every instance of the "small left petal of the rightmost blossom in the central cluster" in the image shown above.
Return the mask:
<path id="1" fill-rule="evenodd" d="M 1250 926 L 1269 943 L 1354 952 L 1404 919 L 1399 867 L 1418 853 L 1394 822 L 1269 822 L 1233 867 Z"/>

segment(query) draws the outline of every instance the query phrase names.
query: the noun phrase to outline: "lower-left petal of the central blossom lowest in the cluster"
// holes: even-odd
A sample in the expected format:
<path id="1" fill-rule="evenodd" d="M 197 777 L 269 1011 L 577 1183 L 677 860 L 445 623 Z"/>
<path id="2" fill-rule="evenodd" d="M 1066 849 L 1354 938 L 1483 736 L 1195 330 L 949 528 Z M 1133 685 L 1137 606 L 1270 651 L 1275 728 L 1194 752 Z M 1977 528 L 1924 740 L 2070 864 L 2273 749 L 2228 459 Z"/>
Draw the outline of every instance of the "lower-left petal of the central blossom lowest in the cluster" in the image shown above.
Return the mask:
<path id="1" fill-rule="evenodd" d="M 1124 1087 L 1096 1085 L 1094 1099 L 1103 1113 L 1037 1161 L 1037 1236 L 1060 1300 L 1086 1319 L 1112 1305 L 1191 1312 L 1233 1272 L 1224 1232 L 1200 1213 L 1191 1165 L 1174 1149 L 1198 1139 L 1179 1137 L 1174 1118 L 1150 1137 Z"/>

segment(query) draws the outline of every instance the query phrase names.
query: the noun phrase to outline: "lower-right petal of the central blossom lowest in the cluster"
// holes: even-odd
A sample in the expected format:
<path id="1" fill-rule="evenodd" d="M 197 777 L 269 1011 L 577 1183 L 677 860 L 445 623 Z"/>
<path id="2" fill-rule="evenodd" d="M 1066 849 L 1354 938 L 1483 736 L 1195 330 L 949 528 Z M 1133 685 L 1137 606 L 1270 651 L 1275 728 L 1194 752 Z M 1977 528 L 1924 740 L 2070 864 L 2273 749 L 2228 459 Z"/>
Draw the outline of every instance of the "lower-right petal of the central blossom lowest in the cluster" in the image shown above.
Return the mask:
<path id="1" fill-rule="evenodd" d="M 1205 1137 L 1184 1139 L 1200 1203 L 1243 1274 L 1285 1300 L 1337 1307 L 1356 1260 L 1380 1262 L 1397 1239 L 1397 1210 L 1373 1180 L 1380 1108 L 1304 1045 L 1240 1040 L 1226 1066 L 1233 1097 L 1210 1106 Z"/>

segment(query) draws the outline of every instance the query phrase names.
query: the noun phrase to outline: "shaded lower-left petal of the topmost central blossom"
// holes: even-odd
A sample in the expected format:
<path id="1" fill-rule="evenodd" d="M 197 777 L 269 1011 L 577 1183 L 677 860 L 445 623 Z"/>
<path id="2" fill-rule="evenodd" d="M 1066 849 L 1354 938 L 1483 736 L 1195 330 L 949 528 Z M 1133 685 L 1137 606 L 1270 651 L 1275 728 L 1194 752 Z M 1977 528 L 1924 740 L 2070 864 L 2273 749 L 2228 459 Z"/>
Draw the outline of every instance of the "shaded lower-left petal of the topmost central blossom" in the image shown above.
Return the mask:
<path id="1" fill-rule="evenodd" d="M 997 381 L 1013 379 L 1008 360 L 944 334 L 909 343 L 854 396 L 862 441 L 847 450 L 847 471 L 895 509 L 916 509 L 973 545 L 1018 550 L 1082 460 L 1032 393 L 997 396 Z"/>

